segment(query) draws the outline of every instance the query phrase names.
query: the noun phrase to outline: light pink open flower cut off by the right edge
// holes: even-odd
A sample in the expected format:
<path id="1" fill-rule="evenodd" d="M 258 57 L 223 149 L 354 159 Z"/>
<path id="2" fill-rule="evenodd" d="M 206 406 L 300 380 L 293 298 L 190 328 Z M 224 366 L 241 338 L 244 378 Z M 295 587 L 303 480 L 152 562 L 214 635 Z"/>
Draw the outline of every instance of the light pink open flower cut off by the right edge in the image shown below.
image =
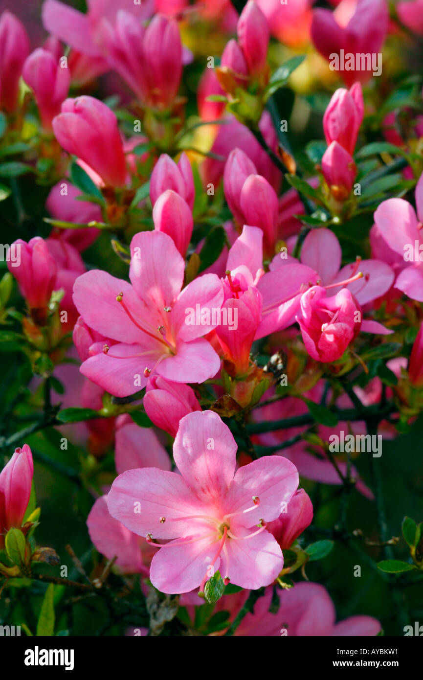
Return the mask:
<path id="1" fill-rule="evenodd" d="M 423 174 L 416 186 L 416 211 L 405 199 L 383 201 L 375 211 L 375 224 L 386 244 L 409 265 L 396 279 L 409 298 L 423 302 Z"/>

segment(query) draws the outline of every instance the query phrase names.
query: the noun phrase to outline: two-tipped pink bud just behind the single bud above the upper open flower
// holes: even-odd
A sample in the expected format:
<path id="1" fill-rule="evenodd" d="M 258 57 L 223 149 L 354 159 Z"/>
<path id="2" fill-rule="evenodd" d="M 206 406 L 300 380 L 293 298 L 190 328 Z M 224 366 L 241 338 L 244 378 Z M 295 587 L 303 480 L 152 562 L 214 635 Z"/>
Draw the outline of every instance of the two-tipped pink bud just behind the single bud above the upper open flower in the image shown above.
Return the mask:
<path id="1" fill-rule="evenodd" d="M 158 159 L 150 178 L 150 199 L 152 205 L 167 189 L 172 189 L 188 203 L 190 209 L 194 205 L 194 178 L 190 162 L 182 153 L 177 164 L 167 154 Z"/>

